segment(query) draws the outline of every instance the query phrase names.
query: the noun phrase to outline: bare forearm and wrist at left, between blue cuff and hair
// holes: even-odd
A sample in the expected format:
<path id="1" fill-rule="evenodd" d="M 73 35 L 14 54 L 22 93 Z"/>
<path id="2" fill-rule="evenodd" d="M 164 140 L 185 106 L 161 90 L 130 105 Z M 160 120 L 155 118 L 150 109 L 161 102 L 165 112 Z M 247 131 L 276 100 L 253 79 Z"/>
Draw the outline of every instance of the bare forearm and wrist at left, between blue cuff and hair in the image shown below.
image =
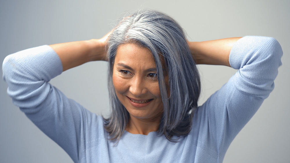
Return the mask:
<path id="1" fill-rule="evenodd" d="M 101 39 L 49 45 L 59 56 L 63 71 L 89 61 L 107 61 L 106 42 L 112 31 Z"/>

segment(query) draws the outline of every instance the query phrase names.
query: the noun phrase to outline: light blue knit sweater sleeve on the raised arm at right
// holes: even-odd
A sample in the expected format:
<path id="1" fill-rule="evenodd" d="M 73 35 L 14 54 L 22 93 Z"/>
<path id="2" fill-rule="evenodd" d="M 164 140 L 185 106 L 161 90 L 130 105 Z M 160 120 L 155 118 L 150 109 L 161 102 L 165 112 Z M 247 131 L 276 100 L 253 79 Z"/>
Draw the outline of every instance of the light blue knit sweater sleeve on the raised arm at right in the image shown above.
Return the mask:
<path id="1" fill-rule="evenodd" d="M 232 47 L 229 63 L 238 71 L 197 109 L 203 135 L 215 146 L 221 162 L 230 143 L 274 89 L 282 49 L 276 39 L 245 36 Z"/>

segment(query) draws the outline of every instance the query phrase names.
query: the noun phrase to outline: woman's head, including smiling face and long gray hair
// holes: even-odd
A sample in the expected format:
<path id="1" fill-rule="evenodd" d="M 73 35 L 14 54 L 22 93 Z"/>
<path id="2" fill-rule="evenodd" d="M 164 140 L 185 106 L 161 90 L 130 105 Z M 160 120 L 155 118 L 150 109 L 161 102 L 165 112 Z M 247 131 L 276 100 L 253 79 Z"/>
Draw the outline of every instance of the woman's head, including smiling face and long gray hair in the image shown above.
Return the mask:
<path id="1" fill-rule="evenodd" d="M 126 56 L 129 57 L 127 60 Z M 156 112 L 148 112 L 154 112 L 161 118 L 158 131 L 169 140 L 173 135 L 189 133 L 193 115 L 189 112 L 197 107 L 200 79 L 182 28 L 172 18 L 155 10 L 140 10 L 125 17 L 109 36 L 108 61 L 112 112 L 106 119 L 105 128 L 112 139 L 118 140 L 130 115 L 138 114 L 127 107 L 134 109 L 134 101 L 157 107 L 153 108 Z M 131 75 L 130 68 L 135 78 L 129 80 L 130 76 L 126 75 Z M 133 101 L 131 105 L 130 100 Z M 143 105 L 140 104 L 141 107 Z M 157 114 L 158 111 L 160 114 Z M 140 113 L 139 116 L 142 115 L 145 114 Z"/>

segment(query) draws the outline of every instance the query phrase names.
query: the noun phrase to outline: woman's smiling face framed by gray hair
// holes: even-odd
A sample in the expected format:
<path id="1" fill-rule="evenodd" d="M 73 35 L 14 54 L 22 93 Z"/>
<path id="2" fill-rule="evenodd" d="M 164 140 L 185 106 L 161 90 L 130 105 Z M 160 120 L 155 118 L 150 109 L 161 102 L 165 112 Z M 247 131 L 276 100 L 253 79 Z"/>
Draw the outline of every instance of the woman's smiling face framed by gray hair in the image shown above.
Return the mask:
<path id="1" fill-rule="evenodd" d="M 146 47 L 127 43 L 117 48 L 113 85 L 131 118 L 160 118 L 163 105 L 156 73 L 153 56 Z"/>

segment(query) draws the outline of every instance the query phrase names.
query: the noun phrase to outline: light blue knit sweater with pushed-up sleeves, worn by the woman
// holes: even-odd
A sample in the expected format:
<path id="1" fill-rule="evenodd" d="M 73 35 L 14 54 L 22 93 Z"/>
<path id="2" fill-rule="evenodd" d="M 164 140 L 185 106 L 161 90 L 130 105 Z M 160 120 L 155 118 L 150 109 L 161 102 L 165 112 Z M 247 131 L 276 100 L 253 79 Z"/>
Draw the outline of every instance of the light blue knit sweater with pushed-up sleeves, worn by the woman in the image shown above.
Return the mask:
<path id="1" fill-rule="evenodd" d="M 7 56 L 2 70 L 13 103 L 74 162 L 208 163 L 222 162 L 232 140 L 269 96 L 281 56 L 276 39 L 246 36 L 238 40 L 229 62 L 239 70 L 195 110 L 192 130 L 177 143 L 156 132 L 125 131 L 114 146 L 101 116 L 50 85 L 50 79 L 61 74 L 62 65 L 48 45 Z"/>

